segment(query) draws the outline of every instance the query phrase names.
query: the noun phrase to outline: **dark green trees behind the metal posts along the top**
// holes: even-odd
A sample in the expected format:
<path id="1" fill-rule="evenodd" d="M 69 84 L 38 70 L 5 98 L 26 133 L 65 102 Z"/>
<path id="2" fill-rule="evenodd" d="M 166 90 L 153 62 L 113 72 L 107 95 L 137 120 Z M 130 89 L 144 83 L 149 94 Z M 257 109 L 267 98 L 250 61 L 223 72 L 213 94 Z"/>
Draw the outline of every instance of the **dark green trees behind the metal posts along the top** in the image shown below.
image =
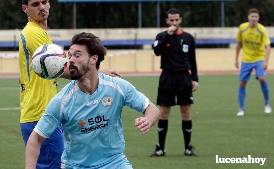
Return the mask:
<path id="1" fill-rule="evenodd" d="M 156 3 L 142 2 L 142 27 L 156 26 Z M 50 0 L 49 28 L 72 27 L 72 3 Z M 27 16 L 21 0 L 0 0 L 0 29 L 22 29 Z M 220 2 L 160 2 L 160 26 L 166 27 L 166 11 L 178 8 L 182 12 L 182 27 L 220 26 Z M 239 26 L 247 22 L 250 8 L 260 10 L 260 23 L 274 26 L 274 0 L 238 0 L 225 2 L 225 26 Z M 77 28 L 136 28 L 138 2 L 77 3 Z"/>

